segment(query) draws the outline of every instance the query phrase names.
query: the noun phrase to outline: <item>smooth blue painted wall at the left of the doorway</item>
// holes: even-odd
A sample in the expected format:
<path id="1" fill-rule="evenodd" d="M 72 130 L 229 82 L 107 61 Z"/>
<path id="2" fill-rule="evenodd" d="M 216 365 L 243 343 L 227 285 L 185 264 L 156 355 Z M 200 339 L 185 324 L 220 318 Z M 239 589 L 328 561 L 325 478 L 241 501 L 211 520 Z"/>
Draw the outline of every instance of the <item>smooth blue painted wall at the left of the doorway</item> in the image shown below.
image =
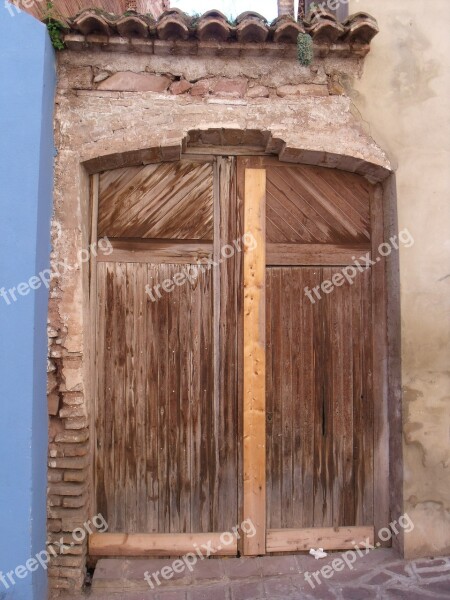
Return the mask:
<path id="1" fill-rule="evenodd" d="M 46 547 L 48 290 L 17 287 L 49 266 L 55 57 L 13 14 L 0 3 L 0 599 L 43 600 L 40 565 L 1 580 Z"/>

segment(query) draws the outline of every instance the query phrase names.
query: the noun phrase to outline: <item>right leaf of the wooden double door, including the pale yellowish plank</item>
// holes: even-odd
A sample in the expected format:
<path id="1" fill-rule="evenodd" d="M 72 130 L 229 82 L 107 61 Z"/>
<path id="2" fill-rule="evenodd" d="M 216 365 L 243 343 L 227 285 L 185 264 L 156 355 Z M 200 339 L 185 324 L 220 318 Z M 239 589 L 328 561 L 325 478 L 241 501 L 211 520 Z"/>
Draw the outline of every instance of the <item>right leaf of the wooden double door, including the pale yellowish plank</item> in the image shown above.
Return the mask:
<path id="1" fill-rule="evenodd" d="M 373 543 L 388 522 L 381 196 L 267 158 L 242 159 L 239 182 L 260 241 L 244 258 L 247 553 Z"/>

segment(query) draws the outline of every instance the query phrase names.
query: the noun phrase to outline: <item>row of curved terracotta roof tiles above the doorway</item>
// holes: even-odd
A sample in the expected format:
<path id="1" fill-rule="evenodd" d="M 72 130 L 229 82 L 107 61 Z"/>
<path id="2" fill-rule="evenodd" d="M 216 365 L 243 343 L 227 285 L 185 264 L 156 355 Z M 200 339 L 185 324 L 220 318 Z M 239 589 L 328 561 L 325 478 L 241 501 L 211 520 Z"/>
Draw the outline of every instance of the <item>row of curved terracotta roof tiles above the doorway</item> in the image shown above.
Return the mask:
<path id="1" fill-rule="evenodd" d="M 177 44 L 197 42 L 208 44 L 245 45 L 252 52 L 252 44 L 294 45 L 299 33 L 309 33 L 316 45 L 346 45 L 350 51 L 367 53 L 373 37 L 378 33 L 376 20 L 367 13 L 350 16 L 339 23 L 332 13 L 323 10 L 311 11 L 303 21 L 294 21 L 289 16 L 277 18 L 272 23 L 260 14 L 245 12 L 231 23 L 218 10 L 210 10 L 201 17 L 192 17 L 173 8 L 165 11 L 156 21 L 149 15 L 128 11 L 117 16 L 99 9 L 83 10 L 76 17 L 68 19 L 68 41 L 74 41 L 74 34 L 87 36 L 92 43 L 93 36 L 120 37 L 132 41 L 134 38 L 159 39 Z M 79 40 L 78 40 L 79 41 Z M 112 40 L 110 41 L 110 43 Z M 103 43 L 104 39 L 103 39 Z M 156 42 L 155 42 L 156 44 Z M 126 43 L 133 47 L 133 43 Z M 82 44 L 69 44 L 69 47 L 82 47 Z M 230 48 L 231 52 L 231 48 Z M 182 53 L 182 52 L 180 52 Z M 226 52 L 224 51 L 226 54 Z"/>

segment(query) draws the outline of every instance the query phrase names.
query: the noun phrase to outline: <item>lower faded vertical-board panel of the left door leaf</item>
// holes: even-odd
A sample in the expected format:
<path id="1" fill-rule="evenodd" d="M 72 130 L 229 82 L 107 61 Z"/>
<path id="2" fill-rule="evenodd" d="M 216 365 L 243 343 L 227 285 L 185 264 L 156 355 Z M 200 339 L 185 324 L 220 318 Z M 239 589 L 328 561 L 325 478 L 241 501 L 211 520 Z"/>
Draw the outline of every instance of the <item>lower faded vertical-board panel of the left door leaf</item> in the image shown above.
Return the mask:
<path id="1" fill-rule="evenodd" d="M 179 265 L 97 265 L 97 510 L 113 533 L 237 523 L 236 436 L 227 430 L 216 443 L 213 428 L 212 273 L 187 268 L 183 286 L 152 302 L 145 286 L 172 278 Z M 235 399 L 228 427 L 236 410 Z M 217 504 L 222 494 L 226 509 Z"/>

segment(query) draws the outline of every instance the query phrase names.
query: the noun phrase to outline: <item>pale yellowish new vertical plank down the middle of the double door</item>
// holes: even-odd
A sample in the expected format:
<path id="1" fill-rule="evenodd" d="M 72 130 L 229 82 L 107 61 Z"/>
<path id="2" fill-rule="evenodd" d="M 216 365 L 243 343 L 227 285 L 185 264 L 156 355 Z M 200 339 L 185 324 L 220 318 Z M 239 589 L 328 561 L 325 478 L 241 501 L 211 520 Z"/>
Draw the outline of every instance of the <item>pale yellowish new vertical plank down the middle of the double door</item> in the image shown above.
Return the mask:
<path id="1" fill-rule="evenodd" d="M 266 548 L 266 391 L 265 391 L 265 169 L 246 169 L 244 231 L 256 240 L 244 249 L 244 518 L 254 537 L 244 540 L 246 555 Z"/>

